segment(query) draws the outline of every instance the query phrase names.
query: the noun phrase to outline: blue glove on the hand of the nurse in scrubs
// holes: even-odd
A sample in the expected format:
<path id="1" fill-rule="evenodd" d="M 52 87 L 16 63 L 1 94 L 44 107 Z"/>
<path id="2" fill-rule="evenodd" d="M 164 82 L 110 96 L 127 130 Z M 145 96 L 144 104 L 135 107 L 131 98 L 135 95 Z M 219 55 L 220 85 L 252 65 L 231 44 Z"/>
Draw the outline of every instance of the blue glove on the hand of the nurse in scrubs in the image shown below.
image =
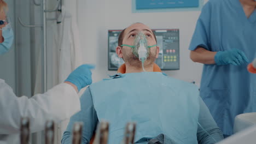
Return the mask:
<path id="1" fill-rule="evenodd" d="M 242 65 L 244 62 L 249 62 L 245 53 L 238 49 L 219 51 L 214 56 L 214 61 L 217 65 Z"/>

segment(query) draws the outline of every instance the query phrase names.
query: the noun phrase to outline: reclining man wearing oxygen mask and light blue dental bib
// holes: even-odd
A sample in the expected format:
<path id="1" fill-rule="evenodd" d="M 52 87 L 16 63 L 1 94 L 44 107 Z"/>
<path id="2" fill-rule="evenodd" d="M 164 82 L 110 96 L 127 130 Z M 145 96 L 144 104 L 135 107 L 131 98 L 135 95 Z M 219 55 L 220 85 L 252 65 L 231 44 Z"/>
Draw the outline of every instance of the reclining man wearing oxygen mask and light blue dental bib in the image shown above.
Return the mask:
<path id="1" fill-rule="evenodd" d="M 123 140 L 127 122 L 136 122 L 135 143 L 216 143 L 223 139 L 192 83 L 161 73 L 154 63 L 159 47 L 152 30 L 134 23 L 119 35 L 119 73 L 91 84 L 80 98 L 81 111 L 71 117 L 62 143 L 71 143 L 74 122 L 84 123 L 82 143 L 89 143 L 98 122 L 109 122 L 110 144 Z M 123 73 L 123 74 L 122 74 Z M 160 140 L 161 141 L 161 140 Z M 160 143 L 159 141 L 159 143 Z"/>

